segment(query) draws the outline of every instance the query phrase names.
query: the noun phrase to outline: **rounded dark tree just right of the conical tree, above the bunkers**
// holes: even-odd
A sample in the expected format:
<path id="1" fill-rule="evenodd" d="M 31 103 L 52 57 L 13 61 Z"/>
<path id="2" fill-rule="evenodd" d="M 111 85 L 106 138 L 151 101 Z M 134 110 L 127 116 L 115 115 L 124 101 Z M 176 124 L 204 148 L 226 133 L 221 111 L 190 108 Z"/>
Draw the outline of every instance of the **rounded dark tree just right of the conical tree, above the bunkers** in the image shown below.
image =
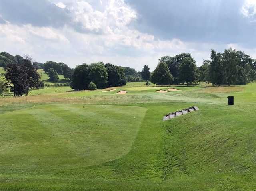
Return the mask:
<path id="1" fill-rule="evenodd" d="M 189 83 L 198 80 L 198 68 L 196 67 L 196 61 L 193 58 L 185 58 L 179 65 L 179 82 Z"/>

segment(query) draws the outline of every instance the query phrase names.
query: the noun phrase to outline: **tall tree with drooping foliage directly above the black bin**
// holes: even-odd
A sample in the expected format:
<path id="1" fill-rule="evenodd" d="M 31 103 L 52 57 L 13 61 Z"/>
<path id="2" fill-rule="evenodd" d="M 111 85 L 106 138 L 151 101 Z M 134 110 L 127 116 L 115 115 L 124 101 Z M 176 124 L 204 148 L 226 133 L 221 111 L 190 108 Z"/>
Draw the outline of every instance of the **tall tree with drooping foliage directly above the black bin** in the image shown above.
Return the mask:
<path id="1" fill-rule="evenodd" d="M 239 59 L 236 57 L 236 51 L 228 49 L 222 55 L 222 65 L 224 70 L 224 82 L 228 85 L 235 84 L 237 80 L 237 66 Z"/>

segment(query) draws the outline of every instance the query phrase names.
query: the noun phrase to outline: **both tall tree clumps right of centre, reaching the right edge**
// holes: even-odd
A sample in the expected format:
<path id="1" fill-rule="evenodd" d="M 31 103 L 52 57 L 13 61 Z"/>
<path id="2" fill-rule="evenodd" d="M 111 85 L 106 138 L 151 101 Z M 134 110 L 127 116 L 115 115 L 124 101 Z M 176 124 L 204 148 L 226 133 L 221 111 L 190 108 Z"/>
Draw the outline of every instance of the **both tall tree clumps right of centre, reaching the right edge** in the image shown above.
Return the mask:
<path id="1" fill-rule="evenodd" d="M 190 53 L 164 56 L 159 59 L 150 81 L 157 85 L 189 85 L 198 81 L 206 85 L 246 85 L 256 81 L 256 61 L 244 52 L 230 48 L 216 53 L 212 49 L 210 58 L 197 67 Z"/>

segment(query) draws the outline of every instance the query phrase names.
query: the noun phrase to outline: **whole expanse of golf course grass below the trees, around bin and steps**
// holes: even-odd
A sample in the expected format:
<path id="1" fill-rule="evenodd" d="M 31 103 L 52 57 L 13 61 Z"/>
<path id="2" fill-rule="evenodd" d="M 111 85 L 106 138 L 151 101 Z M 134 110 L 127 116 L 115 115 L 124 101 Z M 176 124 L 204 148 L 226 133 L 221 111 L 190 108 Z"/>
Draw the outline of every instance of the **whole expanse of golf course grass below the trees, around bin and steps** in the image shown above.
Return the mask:
<path id="1" fill-rule="evenodd" d="M 176 88 L 8 98 L 22 102 L 0 108 L 0 190 L 253 190 L 256 86 Z"/>

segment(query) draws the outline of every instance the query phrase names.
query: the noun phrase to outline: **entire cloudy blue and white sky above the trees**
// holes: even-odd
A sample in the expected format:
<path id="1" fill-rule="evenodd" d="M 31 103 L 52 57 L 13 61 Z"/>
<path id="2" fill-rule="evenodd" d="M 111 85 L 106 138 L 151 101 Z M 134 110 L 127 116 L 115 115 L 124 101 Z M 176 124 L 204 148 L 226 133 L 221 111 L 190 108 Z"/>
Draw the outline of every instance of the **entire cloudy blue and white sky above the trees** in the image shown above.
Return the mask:
<path id="1" fill-rule="evenodd" d="M 0 52 L 70 67 L 153 71 L 162 56 L 230 47 L 256 58 L 256 0 L 0 0 Z"/>

